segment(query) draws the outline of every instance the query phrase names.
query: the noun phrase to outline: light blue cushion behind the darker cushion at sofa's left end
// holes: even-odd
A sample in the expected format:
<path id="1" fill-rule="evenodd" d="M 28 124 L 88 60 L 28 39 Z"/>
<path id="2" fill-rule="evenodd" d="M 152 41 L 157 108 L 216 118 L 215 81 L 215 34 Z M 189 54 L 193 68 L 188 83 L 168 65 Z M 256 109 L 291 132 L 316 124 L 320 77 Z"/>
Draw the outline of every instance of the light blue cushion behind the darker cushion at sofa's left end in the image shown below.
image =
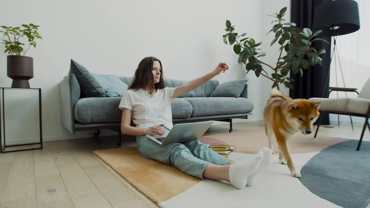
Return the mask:
<path id="1" fill-rule="evenodd" d="M 95 73 L 91 73 L 91 75 L 102 86 L 106 97 L 122 97 L 125 91 L 127 91 L 128 85 L 117 75 Z"/>

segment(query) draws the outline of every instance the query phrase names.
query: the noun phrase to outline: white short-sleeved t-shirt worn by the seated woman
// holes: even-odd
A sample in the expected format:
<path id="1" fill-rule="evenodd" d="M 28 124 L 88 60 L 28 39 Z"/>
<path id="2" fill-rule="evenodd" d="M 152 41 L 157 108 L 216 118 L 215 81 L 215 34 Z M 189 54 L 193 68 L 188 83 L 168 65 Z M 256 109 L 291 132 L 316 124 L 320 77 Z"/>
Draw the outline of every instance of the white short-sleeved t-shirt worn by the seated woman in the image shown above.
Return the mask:
<path id="1" fill-rule="evenodd" d="M 154 125 L 163 124 L 171 129 L 172 111 L 171 101 L 175 87 L 158 89 L 152 96 L 143 89 L 127 90 L 121 98 L 118 108 L 132 110 L 132 122 L 138 128 L 151 128 Z"/>

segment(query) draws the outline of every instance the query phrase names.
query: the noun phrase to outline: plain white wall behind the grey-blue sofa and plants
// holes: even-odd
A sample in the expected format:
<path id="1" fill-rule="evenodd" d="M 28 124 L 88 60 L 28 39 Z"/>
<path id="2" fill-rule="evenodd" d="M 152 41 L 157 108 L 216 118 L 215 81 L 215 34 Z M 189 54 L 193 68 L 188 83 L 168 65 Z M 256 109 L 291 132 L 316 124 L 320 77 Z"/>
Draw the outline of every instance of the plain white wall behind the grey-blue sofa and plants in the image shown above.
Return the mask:
<path id="1" fill-rule="evenodd" d="M 238 56 L 222 41 L 225 20 L 248 37 L 262 40 L 267 53 L 263 60 L 273 63 L 278 51 L 276 46 L 269 48 L 272 38 L 265 36 L 272 26 L 267 15 L 283 6 L 289 8 L 289 1 L 19 0 L 4 1 L 2 8 L 17 8 L 17 15 L 13 10 L 0 9 L 0 19 L 6 26 L 41 26 L 43 40 L 37 40 L 37 48 L 26 55 L 34 58 L 30 85 L 42 88 L 43 136 L 48 141 L 92 135 L 79 132 L 73 136 L 61 126 L 58 84 L 68 73 L 70 58 L 94 73 L 132 76 L 143 57 L 156 56 L 163 62 L 166 78 L 183 80 L 202 76 L 225 61 L 230 70 L 215 79 L 222 83 L 244 78 Z M 11 85 L 6 76 L 6 56 L 0 54 L 1 87 Z M 249 118 L 260 120 L 271 83 L 252 73 L 248 79 L 249 98 L 255 105 Z M 38 137 L 37 97 L 21 93 L 6 94 L 8 140 Z"/>

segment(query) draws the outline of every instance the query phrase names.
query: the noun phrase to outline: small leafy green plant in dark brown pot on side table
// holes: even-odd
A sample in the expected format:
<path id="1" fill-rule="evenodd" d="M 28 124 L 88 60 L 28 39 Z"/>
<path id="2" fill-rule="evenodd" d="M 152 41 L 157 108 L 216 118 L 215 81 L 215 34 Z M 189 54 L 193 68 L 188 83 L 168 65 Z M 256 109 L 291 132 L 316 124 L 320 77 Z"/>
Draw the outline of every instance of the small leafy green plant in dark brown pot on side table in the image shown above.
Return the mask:
<path id="1" fill-rule="evenodd" d="M 21 27 L 0 26 L 4 31 L 3 44 L 5 44 L 4 53 L 7 56 L 7 76 L 13 79 L 12 88 L 30 88 L 28 80 L 33 78 L 33 58 L 25 56 L 30 47 L 36 48 L 35 39 L 42 39 L 38 34 L 38 27 L 34 24 L 22 24 Z M 21 38 L 26 37 L 28 40 L 28 48 L 25 50 L 21 43 Z M 23 56 L 22 56 L 23 53 Z"/>

